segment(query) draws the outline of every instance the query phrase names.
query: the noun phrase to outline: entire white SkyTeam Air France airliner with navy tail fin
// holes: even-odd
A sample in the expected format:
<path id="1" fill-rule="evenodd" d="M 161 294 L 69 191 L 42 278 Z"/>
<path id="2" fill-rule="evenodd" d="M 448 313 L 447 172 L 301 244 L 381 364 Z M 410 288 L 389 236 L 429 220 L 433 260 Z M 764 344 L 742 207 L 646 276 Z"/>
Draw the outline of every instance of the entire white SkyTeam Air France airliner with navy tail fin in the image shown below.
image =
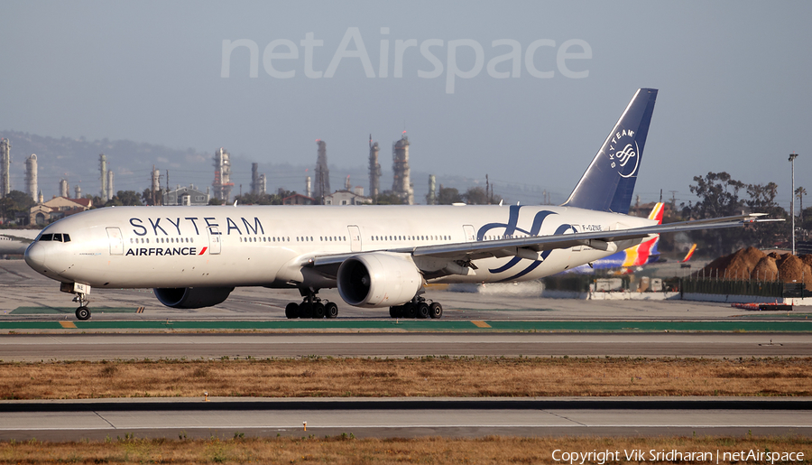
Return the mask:
<path id="1" fill-rule="evenodd" d="M 318 298 L 338 288 L 349 305 L 392 317 L 439 318 L 431 283 L 534 280 L 636 246 L 652 235 L 729 228 L 727 217 L 657 225 L 628 216 L 657 90 L 641 88 L 567 201 L 551 206 L 118 207 L 60 219 L 25 252 L 38 273 L 75 293 L 87 320 L 96 288 L 154 288 L 193 309 L 236 286 L 298 289 L 288 318 L 335 318 Z"/>

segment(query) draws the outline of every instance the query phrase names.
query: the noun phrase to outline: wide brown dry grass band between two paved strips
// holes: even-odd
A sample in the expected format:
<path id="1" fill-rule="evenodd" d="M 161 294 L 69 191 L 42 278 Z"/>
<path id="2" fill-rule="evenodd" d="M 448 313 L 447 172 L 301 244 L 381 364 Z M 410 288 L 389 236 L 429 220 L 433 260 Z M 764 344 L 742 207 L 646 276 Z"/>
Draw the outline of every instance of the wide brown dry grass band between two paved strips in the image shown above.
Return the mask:
<path id="1" fill-rule="evenodd" d="M 0 364 L 0 399 L 810 395 L 812 358 L 285 358 Z"/>

